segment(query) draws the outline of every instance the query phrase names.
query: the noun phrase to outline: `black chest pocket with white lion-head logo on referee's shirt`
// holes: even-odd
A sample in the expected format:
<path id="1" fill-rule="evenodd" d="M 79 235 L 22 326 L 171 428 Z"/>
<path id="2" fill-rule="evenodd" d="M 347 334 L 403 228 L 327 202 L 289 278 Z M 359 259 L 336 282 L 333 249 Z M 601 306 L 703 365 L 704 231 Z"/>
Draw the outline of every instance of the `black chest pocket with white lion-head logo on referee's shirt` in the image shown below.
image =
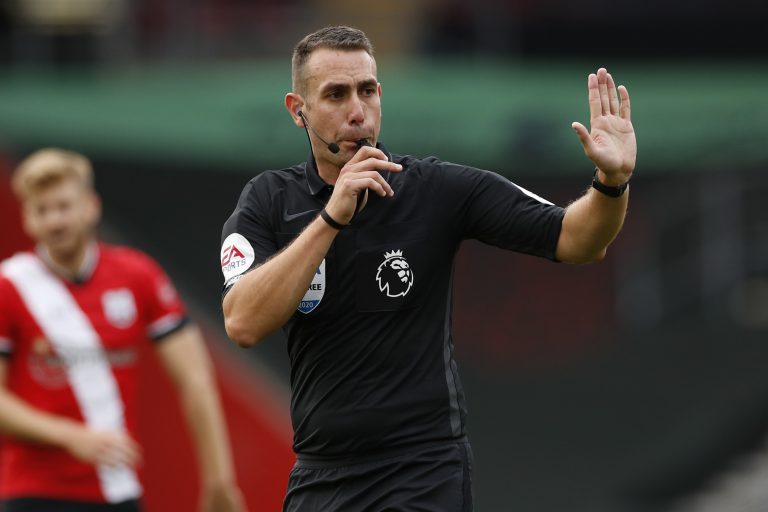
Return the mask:
<path id="1" fill-rule="evenodd" d="M 358 311 L 397 311 L 423 302 L 429 275 L 426 224 L 361 229 L 355 245 Z"/>

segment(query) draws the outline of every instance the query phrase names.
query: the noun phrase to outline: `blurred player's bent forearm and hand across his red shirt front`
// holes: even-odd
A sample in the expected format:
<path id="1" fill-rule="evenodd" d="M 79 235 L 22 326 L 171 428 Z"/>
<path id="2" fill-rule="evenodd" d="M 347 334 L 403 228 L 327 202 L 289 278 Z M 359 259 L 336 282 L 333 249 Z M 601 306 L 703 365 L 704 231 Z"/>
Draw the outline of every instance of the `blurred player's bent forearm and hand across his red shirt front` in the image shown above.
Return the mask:
<path id="1" fill-rule="evenodd" d="M 6 386 L 8 360 L 0 357 L 0 430 L 19 440 L 63 448 L 91 464 L 136 466 L 139 445 L 122 432 L 89 429 L 30 406 Z"/>

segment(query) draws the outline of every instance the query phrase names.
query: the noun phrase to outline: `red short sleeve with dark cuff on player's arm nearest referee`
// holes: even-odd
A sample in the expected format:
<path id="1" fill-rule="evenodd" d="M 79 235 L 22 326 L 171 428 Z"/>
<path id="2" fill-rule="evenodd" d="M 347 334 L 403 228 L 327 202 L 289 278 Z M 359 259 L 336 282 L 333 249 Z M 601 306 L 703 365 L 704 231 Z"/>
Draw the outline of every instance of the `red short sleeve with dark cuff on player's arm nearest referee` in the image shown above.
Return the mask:
<path id="1" fill-rule="evenodd" d="M 146 333 L 151 339 L 160 340 L 188 322 L 186 308 L 160 265 L 147 255 L 142 260 L 139 286 Z"/>

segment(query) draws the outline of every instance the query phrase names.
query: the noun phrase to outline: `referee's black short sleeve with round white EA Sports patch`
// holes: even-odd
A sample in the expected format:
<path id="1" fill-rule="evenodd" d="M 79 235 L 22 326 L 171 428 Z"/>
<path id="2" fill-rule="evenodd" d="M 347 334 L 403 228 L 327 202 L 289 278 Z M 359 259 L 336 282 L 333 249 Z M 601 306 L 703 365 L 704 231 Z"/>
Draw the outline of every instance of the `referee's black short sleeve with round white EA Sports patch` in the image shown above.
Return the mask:
<path id="1" fill-rule="evenodd" d="M 270 223 L 271 198 L 262 176 L 248 182 L 222 229 L 220 256 L 225 295 L 246 272 L 277 252 Z"/>

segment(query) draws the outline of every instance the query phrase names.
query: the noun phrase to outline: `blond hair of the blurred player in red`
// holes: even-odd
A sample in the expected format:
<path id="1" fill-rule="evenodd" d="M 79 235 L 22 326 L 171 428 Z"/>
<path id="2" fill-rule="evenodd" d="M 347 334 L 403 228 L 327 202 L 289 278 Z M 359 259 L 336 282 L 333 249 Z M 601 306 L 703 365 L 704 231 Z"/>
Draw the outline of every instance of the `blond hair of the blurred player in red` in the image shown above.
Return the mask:
<path id="1" fill-rule="evenodd" d="M 74 151 L 45 148 L 35 151 L 16 167 L 11 185 L 19 200 L 24 201 L 65 180 L 77 181 L 93 190 L 90 160 Z"/>

